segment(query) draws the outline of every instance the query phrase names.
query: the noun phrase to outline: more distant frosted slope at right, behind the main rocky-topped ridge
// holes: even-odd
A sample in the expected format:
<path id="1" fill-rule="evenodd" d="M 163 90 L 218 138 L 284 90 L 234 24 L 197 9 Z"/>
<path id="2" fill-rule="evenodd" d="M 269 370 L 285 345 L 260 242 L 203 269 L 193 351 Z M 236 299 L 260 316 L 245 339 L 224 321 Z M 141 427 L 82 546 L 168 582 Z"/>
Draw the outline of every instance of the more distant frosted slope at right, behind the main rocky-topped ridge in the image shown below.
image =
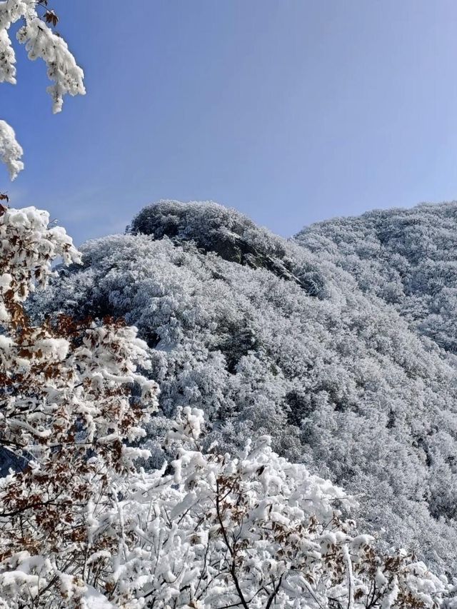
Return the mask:
<path id="1" fill-rule="evenodd" d="M 416 333 L 457 353 L 457 203 L 370 211 L 304 228 L 296 241 L 391 303 Z"/>

